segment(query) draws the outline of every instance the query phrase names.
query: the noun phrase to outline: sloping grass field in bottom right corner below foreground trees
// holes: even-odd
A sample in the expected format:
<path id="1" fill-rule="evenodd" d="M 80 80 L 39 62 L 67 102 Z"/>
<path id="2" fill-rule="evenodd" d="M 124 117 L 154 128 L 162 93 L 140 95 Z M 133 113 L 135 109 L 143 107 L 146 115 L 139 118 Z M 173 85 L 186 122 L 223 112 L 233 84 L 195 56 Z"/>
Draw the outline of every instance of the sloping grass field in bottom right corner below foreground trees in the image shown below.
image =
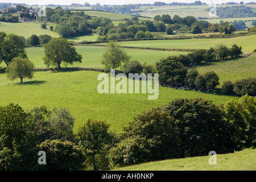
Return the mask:
<path id="1" fill-rule="evenodd" d="M 115 168 L 119 171 L 255 171 L 256 149 L 233 154 L 217 154 L 217 164 L 209 164 L 210 156 L 170 159 L 158 162 Z"/>

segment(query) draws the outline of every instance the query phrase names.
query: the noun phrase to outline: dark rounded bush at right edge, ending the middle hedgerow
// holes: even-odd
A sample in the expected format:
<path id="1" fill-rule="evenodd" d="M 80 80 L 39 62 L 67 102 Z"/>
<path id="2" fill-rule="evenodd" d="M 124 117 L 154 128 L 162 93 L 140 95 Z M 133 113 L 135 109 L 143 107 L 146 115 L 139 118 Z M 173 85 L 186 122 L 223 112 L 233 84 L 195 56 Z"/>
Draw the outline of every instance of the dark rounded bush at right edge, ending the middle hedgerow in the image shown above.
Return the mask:
<path id="1" fill-rule="evenodd" d="M 249 96 L 256 96 L 256 77 L 237 80 L 234 82 L 234 92 L 244 96 L 246 93 Z"/>

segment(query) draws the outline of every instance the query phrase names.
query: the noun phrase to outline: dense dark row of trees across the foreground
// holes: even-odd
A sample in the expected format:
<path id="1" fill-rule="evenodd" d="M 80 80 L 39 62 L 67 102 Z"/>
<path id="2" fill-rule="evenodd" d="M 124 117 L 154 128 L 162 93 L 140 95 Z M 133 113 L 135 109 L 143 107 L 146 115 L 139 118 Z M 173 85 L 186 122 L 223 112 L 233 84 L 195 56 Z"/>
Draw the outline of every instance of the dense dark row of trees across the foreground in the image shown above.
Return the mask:
<path id="1" fill-rule="evenodd" d="M 115 134 L 102 120 L 88 119 L 76 134 L 64 107 L 24 111 L 0 107 L 1 170 L 105 170 L 141 162 L 234 152 L 255 147 L 256 97 L 224 106 L 202 98 L 175 99 L 138 114 Z M 46 152 L 46 165 L 38 152 Z"/>

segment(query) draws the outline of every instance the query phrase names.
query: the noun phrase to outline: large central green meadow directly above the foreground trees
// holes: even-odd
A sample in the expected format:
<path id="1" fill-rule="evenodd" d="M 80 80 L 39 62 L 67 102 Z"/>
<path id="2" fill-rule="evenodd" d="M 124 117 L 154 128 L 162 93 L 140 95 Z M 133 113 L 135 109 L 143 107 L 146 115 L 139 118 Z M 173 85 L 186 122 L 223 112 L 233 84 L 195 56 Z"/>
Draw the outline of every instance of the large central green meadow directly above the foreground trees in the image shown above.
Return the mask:
<path id="1" fill-rule="evenodd" d="M 32 80 L 24 79 L 24 84 L 20 85 L 16 84 L 19 80 L 7 80 L 6 74 L 0 73 L 0 105 L 13 102 L 24 109 L 40 105 L 64 106 L 76 118 L 74 131 L 91 118 L 105 119 L 110 123 L 110 129 L 121 132 L 122 127 L 141 111 L 167 104 L 175 98 L 201 97 L 214 104 L 239 98 L 162 86 L 159 86 L 157 100 L 148 100 L 149 94 L 100 94 L 97 92 L 101 82 L 97 80 L 99 74 L 93 71 L 36 72 Z"/>

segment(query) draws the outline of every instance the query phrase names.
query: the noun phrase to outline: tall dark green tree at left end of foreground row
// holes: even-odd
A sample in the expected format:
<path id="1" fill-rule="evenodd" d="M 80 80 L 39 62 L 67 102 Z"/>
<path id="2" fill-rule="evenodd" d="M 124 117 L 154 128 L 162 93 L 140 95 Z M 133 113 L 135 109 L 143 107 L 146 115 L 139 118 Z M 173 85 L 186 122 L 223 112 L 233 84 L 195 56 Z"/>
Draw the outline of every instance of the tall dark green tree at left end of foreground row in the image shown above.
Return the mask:
<path id="1" fill-rule="evenodd" d="M 0 170 L 30 170 L 37 157 L 30 118 L 18 105 L 0 106 Z"/>

